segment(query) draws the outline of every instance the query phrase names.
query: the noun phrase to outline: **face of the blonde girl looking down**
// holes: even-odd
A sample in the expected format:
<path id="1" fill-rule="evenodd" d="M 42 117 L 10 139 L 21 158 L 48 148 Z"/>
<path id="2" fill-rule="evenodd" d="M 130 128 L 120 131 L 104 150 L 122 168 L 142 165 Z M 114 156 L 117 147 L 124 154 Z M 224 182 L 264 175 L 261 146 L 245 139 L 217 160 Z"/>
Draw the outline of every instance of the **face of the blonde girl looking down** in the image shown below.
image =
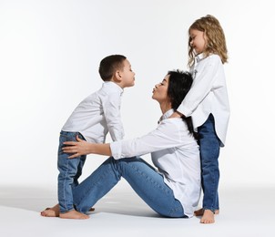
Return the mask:
<path id="1" fill-rule="evenodd" d="M 190 29 L 190 46 L 195 50 L 196 54 L 202 53 L 207 46 L 207 39 L 204 32 L 197 29 Z"/>

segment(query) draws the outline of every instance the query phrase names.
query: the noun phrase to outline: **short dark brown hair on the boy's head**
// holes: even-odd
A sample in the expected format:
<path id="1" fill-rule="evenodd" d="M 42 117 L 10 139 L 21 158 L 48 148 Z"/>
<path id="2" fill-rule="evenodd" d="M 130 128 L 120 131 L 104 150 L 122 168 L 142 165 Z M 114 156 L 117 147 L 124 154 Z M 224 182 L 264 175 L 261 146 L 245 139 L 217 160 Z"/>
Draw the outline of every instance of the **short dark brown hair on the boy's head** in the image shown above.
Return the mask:
<path id="1" fill-rule="evenodd" d="M 114 73 L 117 69 L 122 69 L 124 67 L 124 60 L 127 57 L 122 55 L 111 55 L 104 57 L 99 64 L 99 75 L 104 81 L 109 81 L 112 79 Z"/>

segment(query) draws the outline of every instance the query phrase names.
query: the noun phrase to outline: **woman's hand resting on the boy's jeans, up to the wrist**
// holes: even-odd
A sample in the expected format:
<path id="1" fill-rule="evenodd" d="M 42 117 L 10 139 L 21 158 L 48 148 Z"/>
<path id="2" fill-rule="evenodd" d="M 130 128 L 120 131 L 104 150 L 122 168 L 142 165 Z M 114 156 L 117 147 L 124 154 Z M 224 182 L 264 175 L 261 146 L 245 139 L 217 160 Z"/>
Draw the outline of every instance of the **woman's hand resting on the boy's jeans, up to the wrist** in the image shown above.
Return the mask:
<path id="1" fill-rule="evenodd" d="M 65 153 L 74 153 L 73 155 L 69 156 L 68 158 L 76 158 L 82 155 L 87 155 L 89 153 L 89 147 L 92 145 L 91 143 L 88 143 L 84 139 L 79 139 L 78 136 L 76 136 L 77 141 L 65 141 L 63 144 L 66 145 L 64 148 L 62 148 L 63 152 Z"/>

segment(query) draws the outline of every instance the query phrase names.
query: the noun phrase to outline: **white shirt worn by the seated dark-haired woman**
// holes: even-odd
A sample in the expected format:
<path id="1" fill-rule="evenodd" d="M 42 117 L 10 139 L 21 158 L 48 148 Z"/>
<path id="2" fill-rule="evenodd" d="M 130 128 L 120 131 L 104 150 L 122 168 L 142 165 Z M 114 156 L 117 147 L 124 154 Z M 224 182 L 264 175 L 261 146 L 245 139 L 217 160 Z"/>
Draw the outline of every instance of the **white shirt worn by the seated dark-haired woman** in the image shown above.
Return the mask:
<path id="1" fill-rule="evenodd" d="M 110 148 L 116 160 L 152 152 L 152 161 L 165 183 L 181 202 L 185 214 L 192 217 L 200 196 L 199 146 L 181 118 L 168 118 L 173 112 L 168 110 L 158 128 L 147 135 L 112 142 Z"/>

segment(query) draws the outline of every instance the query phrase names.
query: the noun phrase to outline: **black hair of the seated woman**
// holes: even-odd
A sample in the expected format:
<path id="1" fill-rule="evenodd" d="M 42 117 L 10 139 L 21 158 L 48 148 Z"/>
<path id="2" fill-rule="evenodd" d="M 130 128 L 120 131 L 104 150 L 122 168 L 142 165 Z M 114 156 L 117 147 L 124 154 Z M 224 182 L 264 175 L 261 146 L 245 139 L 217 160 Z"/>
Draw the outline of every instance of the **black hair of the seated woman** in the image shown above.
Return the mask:
<path id="1" fill-rule="evenodd" d="M 193 83 L 193 78 L 189 72 L 180 70 L 168 71 L 168 75 L 168 97 L 171 100 L 172 108 L 176 111 L 182 100 L 188 94 Z M 181 118 L 187 123 L 190 134 L 192 134 L 195 139 L 199 139 L 198 133 L 194 131 L 192 118 L 184 116 Z"/>

